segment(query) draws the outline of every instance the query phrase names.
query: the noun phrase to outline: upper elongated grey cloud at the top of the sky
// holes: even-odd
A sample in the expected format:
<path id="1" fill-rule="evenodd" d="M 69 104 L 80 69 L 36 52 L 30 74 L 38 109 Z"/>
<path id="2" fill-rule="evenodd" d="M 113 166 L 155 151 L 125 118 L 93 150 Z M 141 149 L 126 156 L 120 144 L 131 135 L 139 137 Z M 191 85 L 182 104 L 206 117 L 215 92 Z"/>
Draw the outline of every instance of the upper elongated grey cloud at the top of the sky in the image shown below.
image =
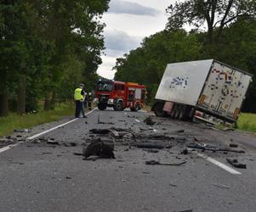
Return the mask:
<path id="1" fill-rule="evenodd" d="M 137 14 L 149 16 L 156 16 L 160 13 L 155 8 L 150 8 L 139 3 L 131 3 L 122 0 L 111 0 L 108 12 L 112 14 Z"/>

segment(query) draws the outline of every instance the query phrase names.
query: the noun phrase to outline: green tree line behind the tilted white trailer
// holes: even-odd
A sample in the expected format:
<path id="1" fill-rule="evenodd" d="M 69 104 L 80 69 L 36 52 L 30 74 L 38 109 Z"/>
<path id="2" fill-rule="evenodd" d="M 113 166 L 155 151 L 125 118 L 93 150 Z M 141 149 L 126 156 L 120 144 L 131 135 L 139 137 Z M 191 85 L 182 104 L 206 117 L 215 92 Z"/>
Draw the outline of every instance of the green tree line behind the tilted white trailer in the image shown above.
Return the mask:
<path id="1" fill-rule="evenodd" d="M 152 102 L 169 63 L 217 59 L 256 75 L 256 1 L 176 1 L 167 13 L 163 31 L 145 37 L 141 47 L 117 59 L 115 80 L 145 84 Z M 187 26 L 190 31 L 185 31 Z M 244 111 L 256 112 L 253 79 Z"/>

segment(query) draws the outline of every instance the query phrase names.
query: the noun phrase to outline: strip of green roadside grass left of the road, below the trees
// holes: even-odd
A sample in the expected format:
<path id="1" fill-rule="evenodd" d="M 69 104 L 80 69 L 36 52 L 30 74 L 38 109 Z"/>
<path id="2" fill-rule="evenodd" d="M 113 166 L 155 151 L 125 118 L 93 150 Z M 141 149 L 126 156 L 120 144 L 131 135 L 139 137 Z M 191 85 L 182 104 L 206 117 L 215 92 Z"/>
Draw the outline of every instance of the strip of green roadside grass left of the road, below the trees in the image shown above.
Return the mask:
<path id="1" fill-rule="evenodd" d="M 0 117 L 0 137 L 10 135 L 14 129 L 30 128 L 50 121 L 60 120 L 65 115 L 74 114 L 74 107 L 61 103 L 54 110 L 42 111 L 37 114 L 9 114 Z"/>

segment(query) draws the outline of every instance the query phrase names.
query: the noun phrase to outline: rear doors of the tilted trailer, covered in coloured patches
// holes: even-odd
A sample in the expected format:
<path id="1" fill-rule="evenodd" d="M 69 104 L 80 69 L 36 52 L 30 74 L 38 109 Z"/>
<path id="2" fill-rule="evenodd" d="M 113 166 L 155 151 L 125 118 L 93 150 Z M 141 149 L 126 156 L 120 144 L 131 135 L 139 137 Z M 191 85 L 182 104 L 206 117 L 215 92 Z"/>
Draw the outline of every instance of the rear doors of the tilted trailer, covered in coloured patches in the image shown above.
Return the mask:
<path id="1" fill-rule="evenodd" d="M 251 79 L 251 75 L 214 61 L 199 104 L 236 119 Z"/>

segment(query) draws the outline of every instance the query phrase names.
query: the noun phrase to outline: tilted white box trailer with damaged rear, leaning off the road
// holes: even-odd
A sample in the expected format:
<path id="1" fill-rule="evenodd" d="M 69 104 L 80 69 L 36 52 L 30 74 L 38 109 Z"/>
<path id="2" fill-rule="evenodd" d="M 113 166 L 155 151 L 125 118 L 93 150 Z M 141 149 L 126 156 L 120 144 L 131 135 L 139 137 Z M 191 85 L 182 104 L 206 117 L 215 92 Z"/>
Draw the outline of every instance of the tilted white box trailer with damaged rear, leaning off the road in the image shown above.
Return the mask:
<path id="1" fill-rule="evenodd" d="M 214 59 L 168 64 L 152 110 L 180 120 L 199 112 L 236 122 L 252 77 Z"/>

